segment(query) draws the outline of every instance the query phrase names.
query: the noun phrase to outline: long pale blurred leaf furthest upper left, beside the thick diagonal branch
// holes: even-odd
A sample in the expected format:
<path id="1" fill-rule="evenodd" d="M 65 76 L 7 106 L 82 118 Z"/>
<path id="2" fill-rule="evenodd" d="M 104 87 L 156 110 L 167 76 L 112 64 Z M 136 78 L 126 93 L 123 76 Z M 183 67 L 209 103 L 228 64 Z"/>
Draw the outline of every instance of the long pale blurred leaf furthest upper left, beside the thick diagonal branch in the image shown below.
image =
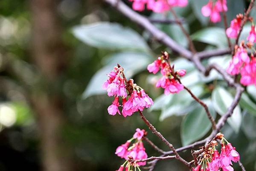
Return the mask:
<path id="1" fill-rule="evenodd" d="M 90 46 L 106 49 L 132 49 L 147 52 L 148 45 L 134 30 L 117 23 L 99 22 L 75 26 L 73 34 Z"/>

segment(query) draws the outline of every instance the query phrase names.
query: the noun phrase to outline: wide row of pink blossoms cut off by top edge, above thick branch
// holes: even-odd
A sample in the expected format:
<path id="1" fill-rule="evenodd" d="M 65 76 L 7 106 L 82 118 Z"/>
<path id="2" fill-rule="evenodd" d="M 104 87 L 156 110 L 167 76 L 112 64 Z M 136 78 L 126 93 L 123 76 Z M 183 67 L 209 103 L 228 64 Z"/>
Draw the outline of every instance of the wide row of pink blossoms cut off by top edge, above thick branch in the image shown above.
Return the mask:
<path id="1" fill-rule="evenodd" d="M 173 6 L 184 7 L 188 4 L 188 0 L 130 0 L 132 8 L 136 11 L 145 10 L 145 5 L 148 10 L 153 12 L 165 12 Z"/>

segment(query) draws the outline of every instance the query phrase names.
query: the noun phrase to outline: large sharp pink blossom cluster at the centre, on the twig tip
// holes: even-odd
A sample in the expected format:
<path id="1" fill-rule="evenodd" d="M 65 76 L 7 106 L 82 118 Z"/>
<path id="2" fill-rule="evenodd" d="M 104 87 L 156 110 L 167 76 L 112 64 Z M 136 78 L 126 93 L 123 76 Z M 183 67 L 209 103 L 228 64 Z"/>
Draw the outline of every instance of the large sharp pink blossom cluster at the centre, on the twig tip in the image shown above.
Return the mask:
<path id="1" fill-rule="evenodd" d="M 138 110 L 142 111 L 144 108 L 150 107 L 153 100 L 140 86 L 134 84 L 132 79 L 127 81 L 123 71 L 122 67 L 114 67 L 113 71 L 108 74 L 108 80 L 104 82 L 102 88 L 107 90 L 108 96 L 114 96 L 112 104 L 108 107 L 108 113 L 110 115 L 121 114 L 118 107 L 122 106 L 122 115 L 126 117 Z M 122 97 L 122 105 L 119 104 L 119 97 Z"/>

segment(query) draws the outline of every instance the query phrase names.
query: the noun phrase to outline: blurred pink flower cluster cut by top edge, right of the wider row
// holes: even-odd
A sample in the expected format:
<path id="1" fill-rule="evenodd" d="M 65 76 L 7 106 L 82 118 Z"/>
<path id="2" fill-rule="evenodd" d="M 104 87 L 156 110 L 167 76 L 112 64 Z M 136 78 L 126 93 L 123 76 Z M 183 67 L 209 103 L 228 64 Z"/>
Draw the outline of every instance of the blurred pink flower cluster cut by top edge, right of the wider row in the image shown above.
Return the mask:
<path id="1" fill-rule="evenodd" d="M 217 0 L 215 3 L 212 0 L 202 7 L 201 12 L 205 17 L 210 17 L 212 23 L 221 21 L 220 12 L 227 11 L 227 0 Z"/>

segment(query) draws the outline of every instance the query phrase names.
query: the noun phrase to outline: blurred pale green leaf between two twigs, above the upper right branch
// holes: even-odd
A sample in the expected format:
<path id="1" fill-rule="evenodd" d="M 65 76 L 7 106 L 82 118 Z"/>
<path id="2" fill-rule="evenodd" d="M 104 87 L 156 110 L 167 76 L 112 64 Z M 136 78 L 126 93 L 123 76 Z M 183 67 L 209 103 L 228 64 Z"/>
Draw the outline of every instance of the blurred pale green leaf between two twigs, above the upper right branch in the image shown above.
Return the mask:
<path id="1" fill-rule="evenodd" d="M 227 47 L 225 30 L 219 27 L 201 29 L 191 35 L 192 40 L 208 43 L 217 47 Z"/>

